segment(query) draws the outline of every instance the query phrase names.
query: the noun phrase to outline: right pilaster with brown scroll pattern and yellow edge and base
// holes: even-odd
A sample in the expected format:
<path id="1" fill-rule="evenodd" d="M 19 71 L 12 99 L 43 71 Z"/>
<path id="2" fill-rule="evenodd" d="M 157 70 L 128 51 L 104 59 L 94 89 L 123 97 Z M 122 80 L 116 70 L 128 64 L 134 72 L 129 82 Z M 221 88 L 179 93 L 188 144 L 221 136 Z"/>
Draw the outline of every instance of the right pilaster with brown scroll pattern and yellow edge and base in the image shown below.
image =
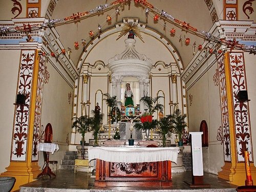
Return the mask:
<path id="1" fill-rule="evenodd" d="M 229 138 L 224 140 L 225 164 L 218 176 L 228 179 L 232 184 L 245 185 L 244 151 L 249 152 L 251 175 L 254 180 L 256 168 L 253 163 L 249 104 L 240 102 L 237 96 L 239 91 L 247 89 L 243 52 L 227 52 L 224 67 L 229 128 L 229 134 L 224 135 L 224 138 Z M 230 151 L 227 153 L 229 145 Z"/>

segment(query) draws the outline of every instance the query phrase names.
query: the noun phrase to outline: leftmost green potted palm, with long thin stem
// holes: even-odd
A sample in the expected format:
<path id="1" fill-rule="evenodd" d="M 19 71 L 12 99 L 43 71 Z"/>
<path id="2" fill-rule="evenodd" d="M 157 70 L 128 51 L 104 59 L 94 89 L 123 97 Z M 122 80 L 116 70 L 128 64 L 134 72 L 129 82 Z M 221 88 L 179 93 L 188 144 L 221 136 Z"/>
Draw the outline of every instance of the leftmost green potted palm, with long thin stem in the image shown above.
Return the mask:
<path id="1" fill-rule="evenodd" d="M 75 128 L 76 131 L 82 135 L 82 159 L 84 159 L 84 136 L 87 132 L 90 132 L 90 123 L 91 120 L 87 115 L 73 118 L 72 128 Z"/>

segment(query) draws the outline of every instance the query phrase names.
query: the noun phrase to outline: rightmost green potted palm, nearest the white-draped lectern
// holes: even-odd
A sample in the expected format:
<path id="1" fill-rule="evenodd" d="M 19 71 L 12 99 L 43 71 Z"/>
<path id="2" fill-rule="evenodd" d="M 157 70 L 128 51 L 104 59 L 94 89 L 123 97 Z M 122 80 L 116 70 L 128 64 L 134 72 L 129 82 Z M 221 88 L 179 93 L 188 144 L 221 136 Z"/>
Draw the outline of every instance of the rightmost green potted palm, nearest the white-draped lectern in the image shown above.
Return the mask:
<path id="1" fill-rule="evenodd" d="M 187 126 L 185 122 L 186 115 L 182 115 L 179 109 L 175 110 L 171 116 L 173 132 L 179 136 L 179 146 L 183 145 L 182 134 Z"/>

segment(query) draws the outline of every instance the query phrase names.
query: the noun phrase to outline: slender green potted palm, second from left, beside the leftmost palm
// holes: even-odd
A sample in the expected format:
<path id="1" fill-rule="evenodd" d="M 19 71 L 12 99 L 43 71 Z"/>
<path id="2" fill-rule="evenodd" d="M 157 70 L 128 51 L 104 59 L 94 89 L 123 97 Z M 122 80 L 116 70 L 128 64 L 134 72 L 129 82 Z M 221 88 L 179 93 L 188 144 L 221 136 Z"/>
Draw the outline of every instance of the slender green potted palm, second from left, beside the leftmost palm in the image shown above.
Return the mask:
<path id="1" fill-rule="evenodd" d="M 92 117 L 90 117 L 91 131 L 93 132 L 94 146 L 98 145 L 98 135 L 102 123 L 103 114 L 92 110 Z"/>

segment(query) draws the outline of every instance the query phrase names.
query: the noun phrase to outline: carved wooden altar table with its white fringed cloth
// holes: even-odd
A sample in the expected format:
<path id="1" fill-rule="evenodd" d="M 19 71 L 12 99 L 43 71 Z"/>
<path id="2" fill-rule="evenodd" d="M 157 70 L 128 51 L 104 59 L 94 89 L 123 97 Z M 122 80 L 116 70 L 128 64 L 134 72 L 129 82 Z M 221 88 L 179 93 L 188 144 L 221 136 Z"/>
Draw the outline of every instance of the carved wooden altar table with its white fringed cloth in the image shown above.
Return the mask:
<path id="1" fill-rule="evenodd" d="M 171 161 L 179 147 L 89 147 L 89 161 L 96 159 L 94 185 L 172 186 Z"/>

